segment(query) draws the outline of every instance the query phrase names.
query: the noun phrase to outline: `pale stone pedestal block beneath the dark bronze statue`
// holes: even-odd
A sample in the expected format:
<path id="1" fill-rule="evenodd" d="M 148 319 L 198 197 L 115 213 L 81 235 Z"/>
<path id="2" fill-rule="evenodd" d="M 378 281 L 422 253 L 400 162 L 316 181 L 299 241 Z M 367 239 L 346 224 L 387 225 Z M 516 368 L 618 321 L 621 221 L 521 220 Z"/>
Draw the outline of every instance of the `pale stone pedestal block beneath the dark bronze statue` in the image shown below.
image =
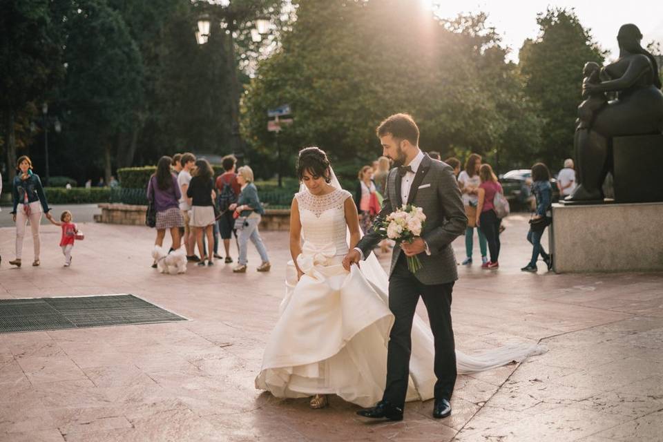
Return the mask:
<path id="1" fill-rule="evenodd" d="M 557 273 L 663 271 L 663 203 L 553 204 Z"/>

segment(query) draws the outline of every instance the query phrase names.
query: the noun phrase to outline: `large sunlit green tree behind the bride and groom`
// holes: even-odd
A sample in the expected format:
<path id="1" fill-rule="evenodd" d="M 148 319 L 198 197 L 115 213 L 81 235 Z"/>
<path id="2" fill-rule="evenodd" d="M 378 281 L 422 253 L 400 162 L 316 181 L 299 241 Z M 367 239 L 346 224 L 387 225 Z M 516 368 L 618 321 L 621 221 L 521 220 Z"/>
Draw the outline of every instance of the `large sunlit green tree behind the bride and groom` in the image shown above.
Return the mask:
<path id="1" fill-rule="evenodd" d="M 380 154 L 375 127 L 391 113 L 411 113 L 421 146 L 443 155 L 508 142 L 523 104 L 503 104 L 503 83 L 520 84 L 485 15 L 440 21 L 407 0 L 295 3 L 291 32 L 260 64 L 243 101 L 244 133 L 266 157 L 276 157 L 267 109 L 285 103 L 295 120 L 279 135 L 287 164 L 315 144 L 347 177 Z"/>

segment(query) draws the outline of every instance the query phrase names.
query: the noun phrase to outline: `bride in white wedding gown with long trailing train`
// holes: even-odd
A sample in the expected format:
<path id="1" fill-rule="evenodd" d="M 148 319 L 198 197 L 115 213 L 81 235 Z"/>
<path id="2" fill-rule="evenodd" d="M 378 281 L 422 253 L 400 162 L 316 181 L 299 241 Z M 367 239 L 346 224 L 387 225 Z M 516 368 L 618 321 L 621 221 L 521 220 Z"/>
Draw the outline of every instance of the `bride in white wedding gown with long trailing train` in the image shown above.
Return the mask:
<path id="1" fill-rule="evenodd" d="M 343 257 L 361 233 L 352 195 L 341 189 L 325 152 L 302 149 L 297 173 L 302 185 L 291 206 L 293 259 L 256 388 L 280 398 L 311 396 L 312 408 L 327 406 L 328 394 L 369 407 L 381 400 L 387 375 L 387 340 L 394 321 L 387 275 L 374 255 L 361 269 L 343 268 Z M 529 344 L 477 356 L 457 351 L 458 371 L 484 371 L 542 351 Z M 433 397 L 433 360 L 430 327 L 415 316 L 407 401 Z"/>

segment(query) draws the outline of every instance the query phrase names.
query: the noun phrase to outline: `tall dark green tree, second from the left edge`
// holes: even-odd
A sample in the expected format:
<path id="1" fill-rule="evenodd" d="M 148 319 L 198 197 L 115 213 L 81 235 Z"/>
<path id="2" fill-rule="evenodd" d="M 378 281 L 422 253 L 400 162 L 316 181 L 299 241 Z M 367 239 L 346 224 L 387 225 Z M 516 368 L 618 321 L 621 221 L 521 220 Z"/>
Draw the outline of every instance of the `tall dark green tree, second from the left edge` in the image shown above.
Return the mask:
<path id="1" fill-rule="evenodd" d="M 110 178 L 117 137 L 131 131 L 143 94 L 143 64 L 135 41 L 104 0 L 82 0 L 67 20 L 63 104 L 75 153 L 103 165 Z M 84 165 L 82 165 L 84 166 Z"/>

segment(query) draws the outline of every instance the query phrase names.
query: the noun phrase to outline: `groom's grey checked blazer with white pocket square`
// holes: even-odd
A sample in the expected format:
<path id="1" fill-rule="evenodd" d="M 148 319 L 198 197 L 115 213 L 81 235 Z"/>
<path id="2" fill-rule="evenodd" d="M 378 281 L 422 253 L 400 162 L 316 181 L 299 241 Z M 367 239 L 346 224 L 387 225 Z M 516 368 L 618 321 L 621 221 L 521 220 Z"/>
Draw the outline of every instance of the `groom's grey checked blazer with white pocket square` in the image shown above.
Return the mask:
<path id="1" fill-rule="evenodd" d="M 398 173 L 398 168 L 392 169 L 387 175 L 384 197 L 378 218 L 385 218 L 397 207 L 406 203 L 401 199 L 401 175 Z M 423 209 L 426 221 L 421 238 L 425 240 L 430 250 L 430 256 L 425 252 L 417 255 L 422 268 L 416 271 L 414 276 L 425 285 L 444 284 L 457 280 L 456 256 L 451 243 L 463 234 L 468 218 L 451 166 L 424 155 L 414 176 L 407 204 L 414 204 Z M 378 234 L 371 230 L 359 241 L 357 247 L 366 258 L 380 240 Z M 401 253 L 403 251 L 400 247 L 394 248 L 390 276 Z"/>

